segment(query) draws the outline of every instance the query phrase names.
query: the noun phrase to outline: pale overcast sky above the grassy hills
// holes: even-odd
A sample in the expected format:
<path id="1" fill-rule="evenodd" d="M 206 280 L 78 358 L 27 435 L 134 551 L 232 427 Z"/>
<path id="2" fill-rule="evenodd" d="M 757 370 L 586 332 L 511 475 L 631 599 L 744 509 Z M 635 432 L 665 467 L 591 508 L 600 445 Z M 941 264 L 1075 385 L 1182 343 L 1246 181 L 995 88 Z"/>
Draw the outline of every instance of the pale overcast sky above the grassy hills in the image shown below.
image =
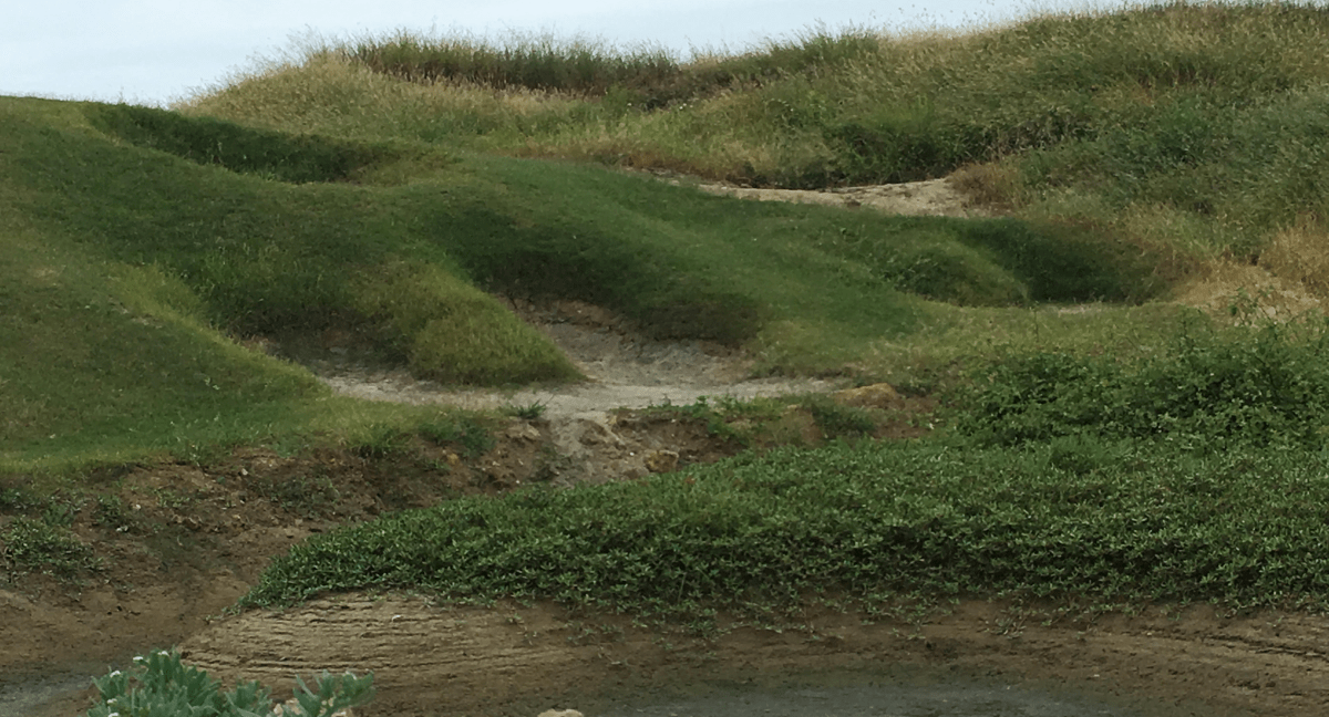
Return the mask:
<path id="1" fill-rule="evenodd" d="M 817 27 L 965 28 L 1083 0 L 0 0 L 0 94 L 166 105 L 223 82 L 292 40 L 462 31 L 740 52 Z"/>

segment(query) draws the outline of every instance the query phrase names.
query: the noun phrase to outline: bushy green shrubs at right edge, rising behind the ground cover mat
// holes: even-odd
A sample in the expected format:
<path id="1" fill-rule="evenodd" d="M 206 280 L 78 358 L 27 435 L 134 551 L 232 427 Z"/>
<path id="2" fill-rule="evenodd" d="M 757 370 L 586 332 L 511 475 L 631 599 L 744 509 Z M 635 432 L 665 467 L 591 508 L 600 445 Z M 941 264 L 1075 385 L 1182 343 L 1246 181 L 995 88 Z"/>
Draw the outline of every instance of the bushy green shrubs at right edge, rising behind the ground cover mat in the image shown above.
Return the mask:
<path id="1" fill-rule="evenodd" d="M 1183 327 L 1138 361 L 1031 353 L 974 372 L 956 429 L 989 445 L 1095 436 L 1193 450 L 1318 449 L 1329 426 L 1329 320 Z"/>

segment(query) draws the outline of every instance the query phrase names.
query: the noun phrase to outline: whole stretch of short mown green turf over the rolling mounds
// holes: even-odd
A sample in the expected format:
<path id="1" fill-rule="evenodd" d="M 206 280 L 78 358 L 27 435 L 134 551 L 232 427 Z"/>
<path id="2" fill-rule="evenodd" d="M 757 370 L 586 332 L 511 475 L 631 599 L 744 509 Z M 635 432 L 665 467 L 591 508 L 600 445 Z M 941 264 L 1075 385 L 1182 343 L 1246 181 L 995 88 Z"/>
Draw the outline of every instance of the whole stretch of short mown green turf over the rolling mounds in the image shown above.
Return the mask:
<path id="1" fill-rule="evenodd" d="M 5 450 L 24 459 L 287 430 L 327 396 L 235 345 L 249 336 L 350 332 L 449 382 L 577 378 L 481 289 L 594 301 L 657 337 L 746 347 L 766 370 L 837 372 L 924 328 L 929 300 L 1159 288 L 1065 227 L 750 203 L 125 105 L 7 98 L 0 117 Z"/>

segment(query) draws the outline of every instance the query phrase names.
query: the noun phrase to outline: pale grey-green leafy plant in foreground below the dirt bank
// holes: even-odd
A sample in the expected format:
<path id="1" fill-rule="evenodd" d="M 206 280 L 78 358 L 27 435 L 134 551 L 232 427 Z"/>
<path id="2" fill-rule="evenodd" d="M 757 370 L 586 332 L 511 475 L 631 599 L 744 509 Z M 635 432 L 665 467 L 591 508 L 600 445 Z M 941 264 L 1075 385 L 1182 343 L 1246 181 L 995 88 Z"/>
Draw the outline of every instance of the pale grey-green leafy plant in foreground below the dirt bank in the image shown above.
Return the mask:
<path id="1" fill-rule="evenodd" d="M 373 675 L 323 672 L 311 689 L 295 678 L 296 710 L 280 714 L 331 717 L 373 697 Z M 175 651 L 154 651 L 134 657 L 129 672 L 118 669 L 93 680 L 101 702 L 85 717 L 271 717 L 272 700 L 255 681 L 222 690 L 206 672 L 181 663 Z M 288 708 L 287 708 L 288 709 Z"/>

